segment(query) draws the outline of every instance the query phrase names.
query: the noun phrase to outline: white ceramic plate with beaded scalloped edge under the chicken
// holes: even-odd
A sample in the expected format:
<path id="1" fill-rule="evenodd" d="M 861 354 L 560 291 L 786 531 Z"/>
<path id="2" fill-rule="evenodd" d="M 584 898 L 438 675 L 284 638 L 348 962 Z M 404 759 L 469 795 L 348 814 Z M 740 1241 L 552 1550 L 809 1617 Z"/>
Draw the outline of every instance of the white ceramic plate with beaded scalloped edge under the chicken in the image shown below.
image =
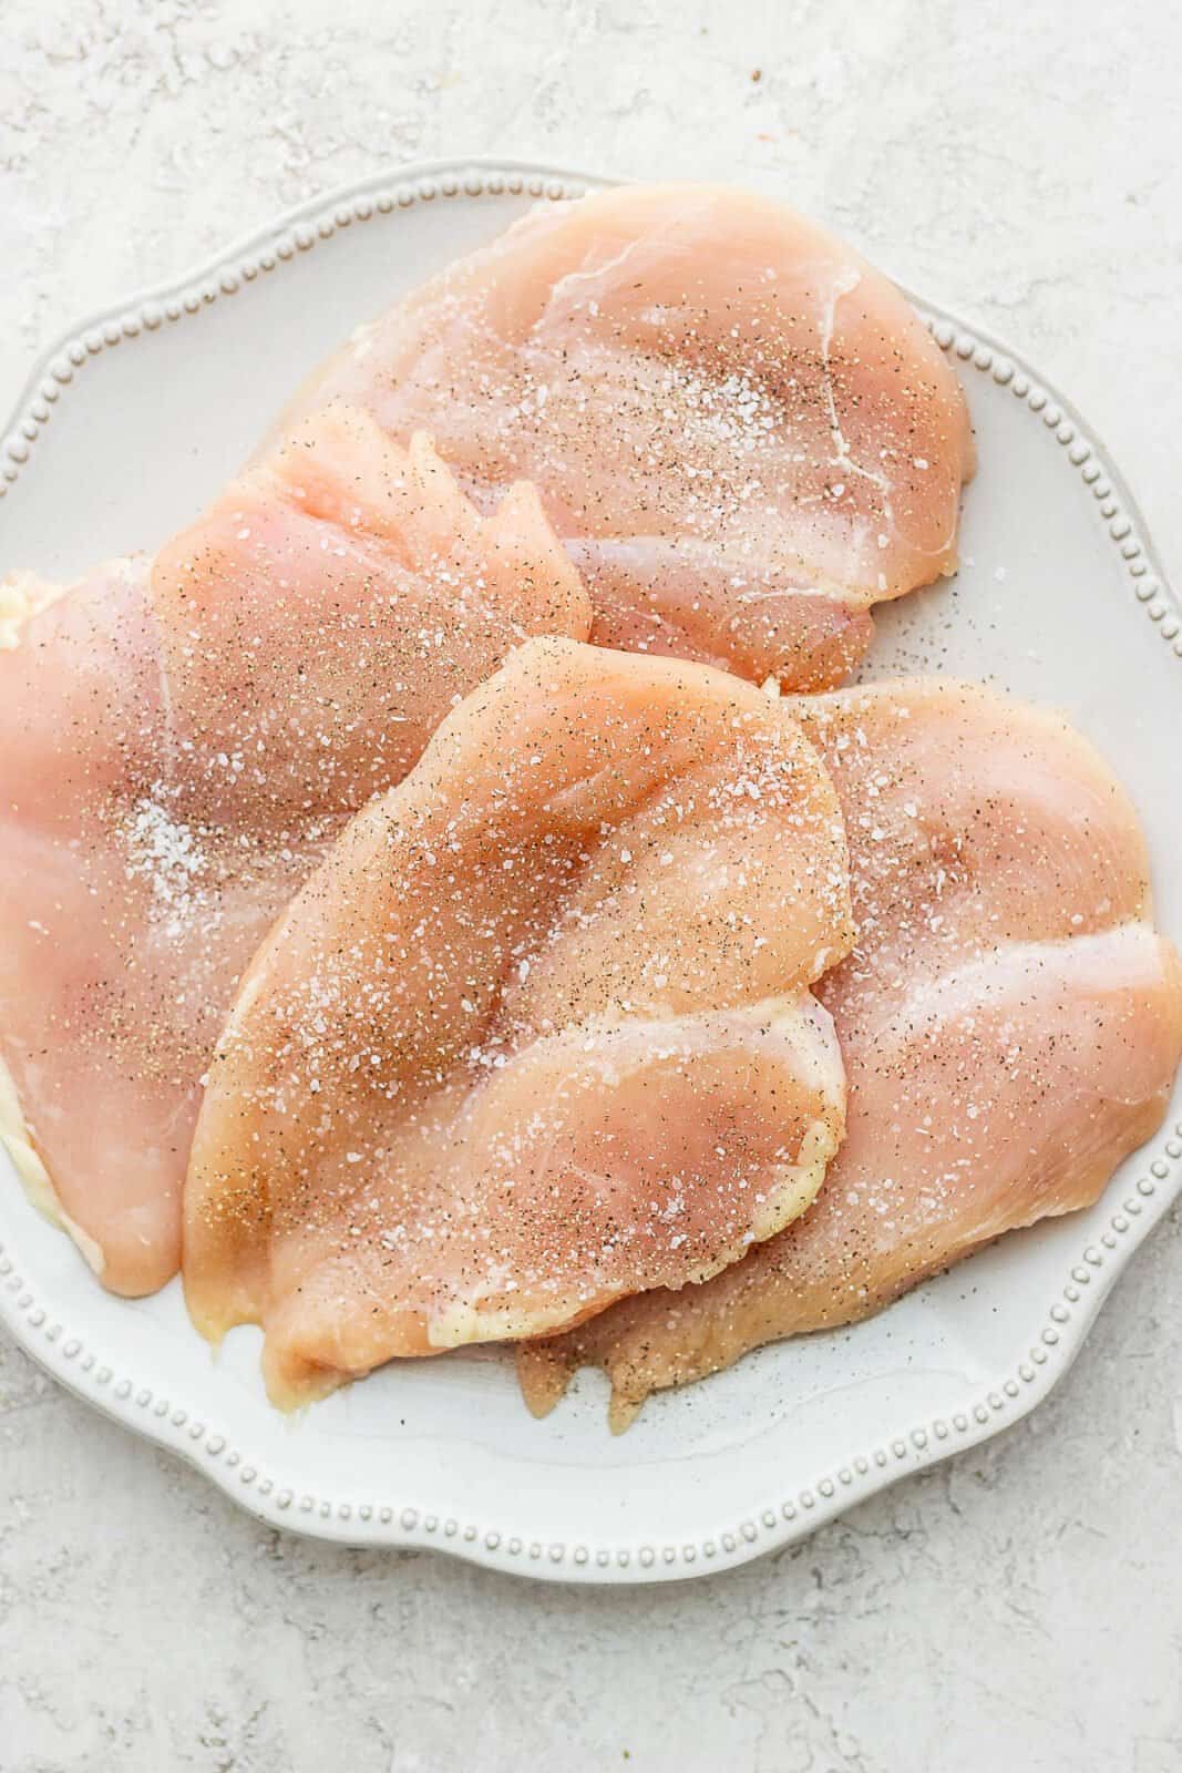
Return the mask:
<path id="1" fill-rule="evenodd" d="M 592 183 L 415 167 L 96 317 L 37 367 L 0 450 L 0 567 L 66 576 L 156 546 L 358 321 L 530 200 Z M 966 383 L 982 466 L 959 580 L 883 606 L 870 668 L 959 672 L 1065 709 L 1129 784 L 1159 918 L 1178 934 L 1177 605 L 1079 415 L 1012 353 L 921 307 Z M 110 1298 L 7 1170 L 0 1314 L 64 1385 L 276 1525 L 532 1576 L 693 1576 L 801 1537 L 1044 1397 L 1182 1186 L 1180 1115 L 1175 1099 L 1090 1213 L 1007 1238 L 854 1330 L 656 1397 L 620 1440 L 599 1374 L 539 1424 L 496 1351 L 386 1367 L 287 1420 L 262 1395 L 259 1332 L 234 1332 L 214 1360 L 177 1282 L 154 1300 Z"/>

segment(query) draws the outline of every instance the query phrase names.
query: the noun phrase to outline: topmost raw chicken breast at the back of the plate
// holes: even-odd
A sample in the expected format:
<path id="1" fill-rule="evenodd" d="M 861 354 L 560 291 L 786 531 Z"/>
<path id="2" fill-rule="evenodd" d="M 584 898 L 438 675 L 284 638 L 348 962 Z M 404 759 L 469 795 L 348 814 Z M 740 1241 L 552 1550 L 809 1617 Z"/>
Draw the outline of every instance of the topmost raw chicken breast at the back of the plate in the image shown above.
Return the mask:
<path id="1" fill-rule="evenodd" d="M 870 606 L 950 573 L 973 450 L 898 291 L 782 204 L 631 186 L 544 204 L 315 376 L 427 427 L 484 502 L 525 477 L 594 638 L 817 690 Z"/>

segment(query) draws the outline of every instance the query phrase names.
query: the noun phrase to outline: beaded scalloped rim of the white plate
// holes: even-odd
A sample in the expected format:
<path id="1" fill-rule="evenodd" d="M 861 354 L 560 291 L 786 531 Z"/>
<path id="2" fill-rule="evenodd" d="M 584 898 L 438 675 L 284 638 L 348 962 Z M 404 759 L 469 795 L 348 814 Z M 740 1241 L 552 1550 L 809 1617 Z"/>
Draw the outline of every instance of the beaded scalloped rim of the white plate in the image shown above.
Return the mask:
<path id="1" fill-rule="evenodd" d="M 37 438 L 66 390 L 101 351 L 138 335 L 179 324 L 184 316 L 232 296 L 275 273 L 298 254 L 342 229 L 397 215 L 415 204 L 452 197 L 579 197 L 615 183 L 528 160 L 432 160 L 390 168 L 314 197 L 214 254 L 197 269 L 103 309 L 50 346 L 16 401 L 0 441 L 0 498 L 19 480 Z M 1157 626 L 1182 660 L 1182 606 L 1154 553 L 1136 500 L 1079 411 L 996 337 L 969 328 L 948 310 L 911 296 L 939 348 L 1007 387 L 1063 449 L 1092 491 L 1108 537 L 1118 551 L 1134 606 Z M 790 1496 L 769 1498 L 744 1519 L 719 1521 L 695 1543 L 594 1544 L 540 1541 L 494 1523 L 439 1518 L 422 1504 L 365 1496 L 317 1496 L 261 1470 L 218 1424 L 184 1402 L 156 1395 L 115 1371 L 57 1319 L 19 1273 L 19 1257 L 0 1243 L 0 1319 L 16 1342 L 53 1379 L 149 1441 L 179 1454 L 218 1488 L 271 1527 L 349 1546 L 438 1548 L 493 1569 L 558 1582 L 668 1582 L 748 1562 L 803 1539 L 856 1502 L 909 1472 L 929 1468 L 1028 1415 L 1058 1383 L 1099 1316 L 1108 1291 L 1150 1229 L 1182 1193 L 1182 1121 L 1166 1126 L 1141 1152 L 1143 1174 L 1108 1216 L 1099 1238 L 1069 1266 L 1056 1298 L 1035 1323 L 1028 1356 L 964 1404 L 897 1436 L 856 1450 L 833 1472 Z"/>

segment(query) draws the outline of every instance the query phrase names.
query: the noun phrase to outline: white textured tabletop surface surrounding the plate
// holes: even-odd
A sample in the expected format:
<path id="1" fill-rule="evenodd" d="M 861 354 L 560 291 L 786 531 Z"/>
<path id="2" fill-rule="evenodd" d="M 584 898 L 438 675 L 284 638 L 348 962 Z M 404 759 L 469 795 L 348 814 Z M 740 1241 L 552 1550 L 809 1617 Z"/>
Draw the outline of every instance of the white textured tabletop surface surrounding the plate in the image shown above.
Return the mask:
<path id="1" fill-rule="evenodd" d="M 1180 66 L 1170 0 L 0 0 L 0 411 L 381 165 L 744 177 L 1060 381 L 1177 582 Z M 284 1539 L 4 1342 L 0 1773 L 1178 1773 L 1180 1519 L 1178 1215 L 1026 1424 L 665 1590 Z"/>

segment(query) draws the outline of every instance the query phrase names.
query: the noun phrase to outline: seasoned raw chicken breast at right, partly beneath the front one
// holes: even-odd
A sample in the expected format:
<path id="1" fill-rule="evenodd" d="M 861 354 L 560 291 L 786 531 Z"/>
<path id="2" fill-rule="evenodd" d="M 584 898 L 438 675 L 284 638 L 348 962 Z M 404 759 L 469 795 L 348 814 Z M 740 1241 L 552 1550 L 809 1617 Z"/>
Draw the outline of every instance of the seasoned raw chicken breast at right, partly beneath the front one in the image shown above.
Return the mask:
<path id="1" fill-rule="evenodd" d="M 1182 975 L 1132 808 L 1054 716 L 955 683 L 796 702 L 845 810 L 858 945 L 817 995 L 849 1129 L 815 1206 L 702 1287 L 521 1349 L 544 1413 L 579 1363 L 611 1424 L 780 1337 L 851 1323 L 1017 1225 L 1088 1206 L 1161 1122 Z"/>

